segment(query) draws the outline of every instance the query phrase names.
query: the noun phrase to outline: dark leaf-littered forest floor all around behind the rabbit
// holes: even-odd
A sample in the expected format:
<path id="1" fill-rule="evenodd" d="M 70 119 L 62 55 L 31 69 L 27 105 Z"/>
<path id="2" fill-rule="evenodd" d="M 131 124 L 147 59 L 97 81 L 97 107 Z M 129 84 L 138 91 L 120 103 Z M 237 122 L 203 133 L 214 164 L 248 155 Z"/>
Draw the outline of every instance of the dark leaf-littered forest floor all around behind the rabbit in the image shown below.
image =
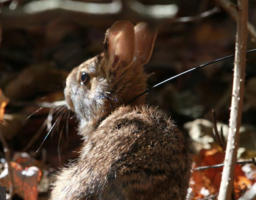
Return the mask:
<path id="1" fill-rule="evenodd" d="M 201 5 L 200 1 L 197 2 Z M 199 12 L 197 4 L 185 1 L 179 4 L 181 16 L 195 14 L 193 9 Z M 210 6 L 205 5 L 205 9 Z M 249 11 L 251 22 L 256 24 L 255 3 Z M 38 108 L 44 102 L 64 99 L 66 76 L 72 68 L 102 52 L 104 33 L 110 26 L 94 27 L 56 19 L 33 27 L 2 27 L 0 102 L 8 104 L 0 130 L 11 152 L 16 191 L 13 199 L 48 199 L 56 171 L 69 160 L 77 158 L 81 140 L 73 114 L 59 118 L 56 128 L 38 150 L 61 115 L 60 110 Z M 234 54 L 235 34 L 236 24 L 223 11 L 196 22 L 161 25 L 152 58 L 145 66 L 145 71 L 151 74 L 148 86 L 208 61 Z M 256 48 L 256 42 L 250 37 L 247 47 L 248 50 Z M 231 58 L 190 72 L 147 95 L 148 104 L 159 106 L 191 137 L 194 152 L 191 200 L 216 199 L 218 195 L 223 168 L 195 169 L 223 163 L 233 61 Z M 238 160 L 249 162 L 236 165 L 235 199 L 256 182 L 256 165 L 252 159 L 256 157 L 255 53 L 247 55 L 245 80 Z M 8 101 L 4 100 L 4 95 Z M 218 130 L 220 142 L 216 141 L 214 128 Z M 9 177 L 3 150 L 0 150 L 0 157 L 0 182 L 6 186 Z"/>

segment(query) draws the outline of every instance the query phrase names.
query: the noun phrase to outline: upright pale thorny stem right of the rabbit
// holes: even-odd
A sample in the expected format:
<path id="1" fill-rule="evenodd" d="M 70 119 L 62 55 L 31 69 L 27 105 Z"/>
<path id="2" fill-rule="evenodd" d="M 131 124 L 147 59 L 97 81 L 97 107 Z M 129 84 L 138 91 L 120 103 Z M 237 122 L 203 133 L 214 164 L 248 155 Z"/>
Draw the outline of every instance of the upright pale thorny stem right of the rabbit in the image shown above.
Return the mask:
<path id="1" fill-rule="evenodd" d="M 234 79 L 232 101 L 229 119 L 229 135 L 221 177 L 221 186 L 218 200 L 230 200 L 234 184 L 234 169 L 239 143 L 239 128 L 243 108 L 246 45 L 247 45 L 247 18 L 248 0 L 238 0 L 238 18 L 236 29 L 236 52 L 234 61 Z"/>

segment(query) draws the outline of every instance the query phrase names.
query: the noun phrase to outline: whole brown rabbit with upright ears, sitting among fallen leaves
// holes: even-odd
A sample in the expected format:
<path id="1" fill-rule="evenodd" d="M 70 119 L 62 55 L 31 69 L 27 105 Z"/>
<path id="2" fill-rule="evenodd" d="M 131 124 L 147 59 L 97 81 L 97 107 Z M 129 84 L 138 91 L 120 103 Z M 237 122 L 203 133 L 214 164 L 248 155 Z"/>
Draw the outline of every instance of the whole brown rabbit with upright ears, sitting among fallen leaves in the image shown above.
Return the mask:
<path id="1" fill-rule="evenodd" d="M 158 108 L 144 105 L 157 31 L 115 22 L 104 52 L 74 68 L 64 89 L 80 121 L 80 156 L 57 175 L 51 200 L 185 200 L 189 139 Z"/>

